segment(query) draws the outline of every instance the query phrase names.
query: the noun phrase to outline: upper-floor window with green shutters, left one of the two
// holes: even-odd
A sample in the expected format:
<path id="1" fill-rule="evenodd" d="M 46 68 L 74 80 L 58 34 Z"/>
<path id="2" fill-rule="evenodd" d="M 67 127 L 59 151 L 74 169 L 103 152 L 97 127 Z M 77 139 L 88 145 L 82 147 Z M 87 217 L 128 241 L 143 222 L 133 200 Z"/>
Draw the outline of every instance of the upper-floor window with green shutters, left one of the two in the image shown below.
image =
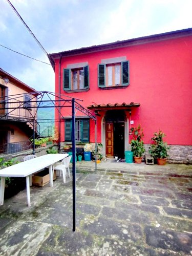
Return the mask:
<path id="1" fill-rule="evenodd" d="M 63 69 L 63 90 L 83 90 L 89 88 L 89 66 L 78 69 Z"/>

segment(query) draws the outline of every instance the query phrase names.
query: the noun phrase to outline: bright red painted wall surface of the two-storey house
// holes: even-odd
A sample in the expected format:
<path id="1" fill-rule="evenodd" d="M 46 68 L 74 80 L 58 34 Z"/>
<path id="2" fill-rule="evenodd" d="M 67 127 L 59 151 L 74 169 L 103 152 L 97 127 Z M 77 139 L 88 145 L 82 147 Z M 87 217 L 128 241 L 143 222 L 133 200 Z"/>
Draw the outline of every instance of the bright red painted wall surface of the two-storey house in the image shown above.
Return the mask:
<path id="1" fill-rule="evenodd" d="M 130 61 L 130 85 L 125 89 L 100 90 L 98 63 L 101 59 L 126 56 Z M 62 70 L 68 64 L 89 63 L 89 92 L 65 93 L 62 89 Z M 56 60 L 55 91 L 58 93 L 59 60 Z M 151 143 L 153 133 L 162 130 L 168 144 L 192 144 L 192 37 L 186 36 L 120 49 L 62 57 L 61 93 L 83 99 L 83 106 L 94 103 L 140 103 L 132 111 L 134 125 L 141 124 L 144 143 Z M 65 109 L 62 110 L 63 115 Z M 77 115 L 80 115 L 78 112 Z M 82 114 L 81 114 L 82 115 Z M 93 124 L 93 123 L 92 123 Z M 91 125 L 91 131 L 94 126 Z M 101 125 L 98 124 L 98 141 Z M 94 133 L 90 133 L 91 142 Z M 61 140 L 64 140 L 63 134 Z"/>

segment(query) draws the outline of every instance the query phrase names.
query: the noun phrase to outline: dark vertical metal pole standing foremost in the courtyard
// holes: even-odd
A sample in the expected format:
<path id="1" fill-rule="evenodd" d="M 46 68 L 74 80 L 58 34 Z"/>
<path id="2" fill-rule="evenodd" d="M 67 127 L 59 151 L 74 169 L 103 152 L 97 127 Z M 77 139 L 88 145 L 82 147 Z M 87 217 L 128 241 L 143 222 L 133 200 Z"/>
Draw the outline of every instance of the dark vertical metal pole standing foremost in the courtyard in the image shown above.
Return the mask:
<path id="1" fill-rule="evenodd" d="M 73 156 L 73 231 L 75 231 L 76 206 L 75 206 L 75 190 L 76 190 L 76 148 L 75 148 L 75 99 L 72 99 L 72 156 Z"/>

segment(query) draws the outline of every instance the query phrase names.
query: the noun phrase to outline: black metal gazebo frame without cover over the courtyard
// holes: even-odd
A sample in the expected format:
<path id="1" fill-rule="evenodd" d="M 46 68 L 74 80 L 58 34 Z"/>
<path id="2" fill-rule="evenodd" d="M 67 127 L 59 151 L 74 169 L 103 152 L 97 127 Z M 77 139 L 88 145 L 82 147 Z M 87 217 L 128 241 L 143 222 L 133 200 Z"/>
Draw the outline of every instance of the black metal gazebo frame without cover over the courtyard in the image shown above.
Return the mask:
<path id="1" fill-rule="evenodd" d="M 21 101 L 19 98 L 24 96 L 30 96 L 30 100 L 28 101 Z M 54 96 L 54 100 L 51 98 Z M 37 99 L 36 99 L 37 97 Z M 47 98 L 44 100 L 44 98 Z M 33 122 L 33 154 L 35 154 L 35 121 L 36 121 L 36 114 L 37 110 L 40 108 L 54 108 L 58 111 L 59 114 L 59 141 L 58 141 L 58 151 L 60 152 L 60 125 L 61 125 L 61 118 L 64 118 L 61 113 L 62 108 L 71 108 L 72 109 L 72 156 L 73 156 L 73 231 L 76 229 L 76 161 L 75 161 L 75 154 L 76 154 L 76 141 L 75 141 L 75 109 L 79 110 L 84 115 L 92 118 L 95 121 L 95 152 L 97 152 L 97 118 L 96 114 L 79 104 L 78 101 L 82 101 L 77 98 L 71 98 L 66 95 L 57 94 L 48 91 L 40 91 L 40 92 L 33 92 L 33 93 L 24 93 L 24 94 L 15 94 L 9 95 L 5 97 L 0 97 L 0 103 L 4 104 L 4 108 L 0 108 L 1 110 L 6 110 L 6 114 L 0 116 L 1 119 L 5 119 L 5 117 L 9 116 L 14 110 L 16 109 L 24 109 L 26 108 L 26 104 L 29 104 L 29 113 L 31 114 L 31 109 L 36 109 L 34 115 L 31 114 L 31 117 L 28 118 L 29 122 Z M 11 104 L 17 103 L 18 106 L 14 107 Z M 31 103 L 35 103 L 32 105 Z M 41 105 L 43 104 L 43 105 Z M 45 104 L 45 105 L 44 105 Z M 66 105 L 67 104 L 67 105 Z M 55 119 L 54 119 L 55 120 Z M 96 154 L 96 153 L 95 153 Z M 97 161 L 95 155 L 95 170 L 97 171 Z"/>

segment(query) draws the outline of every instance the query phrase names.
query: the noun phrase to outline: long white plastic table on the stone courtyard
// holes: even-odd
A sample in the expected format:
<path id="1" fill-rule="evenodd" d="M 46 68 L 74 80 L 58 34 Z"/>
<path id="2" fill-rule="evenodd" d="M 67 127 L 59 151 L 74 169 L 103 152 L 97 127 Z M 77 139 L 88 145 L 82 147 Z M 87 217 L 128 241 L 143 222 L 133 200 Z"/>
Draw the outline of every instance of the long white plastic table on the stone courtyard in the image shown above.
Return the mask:
<path id="1" fill-rule="evenodd" d="M 39 170 L 49 167 L 50 186 L 53 186 L 53 168 L 52 165 L 64 158 L 68 154 L 47 154 L 28 161 L 14 164 L 7 168 L 0 170 L 1 186 L 0 186 L 0 205 L 4 204 L 4 191 L 5 191 L 5 177 L 26 177 L 27 187 L 27 203 L 31 206 L 30 201 L 30 182 L 29 176 L 38 172 Z"/>

